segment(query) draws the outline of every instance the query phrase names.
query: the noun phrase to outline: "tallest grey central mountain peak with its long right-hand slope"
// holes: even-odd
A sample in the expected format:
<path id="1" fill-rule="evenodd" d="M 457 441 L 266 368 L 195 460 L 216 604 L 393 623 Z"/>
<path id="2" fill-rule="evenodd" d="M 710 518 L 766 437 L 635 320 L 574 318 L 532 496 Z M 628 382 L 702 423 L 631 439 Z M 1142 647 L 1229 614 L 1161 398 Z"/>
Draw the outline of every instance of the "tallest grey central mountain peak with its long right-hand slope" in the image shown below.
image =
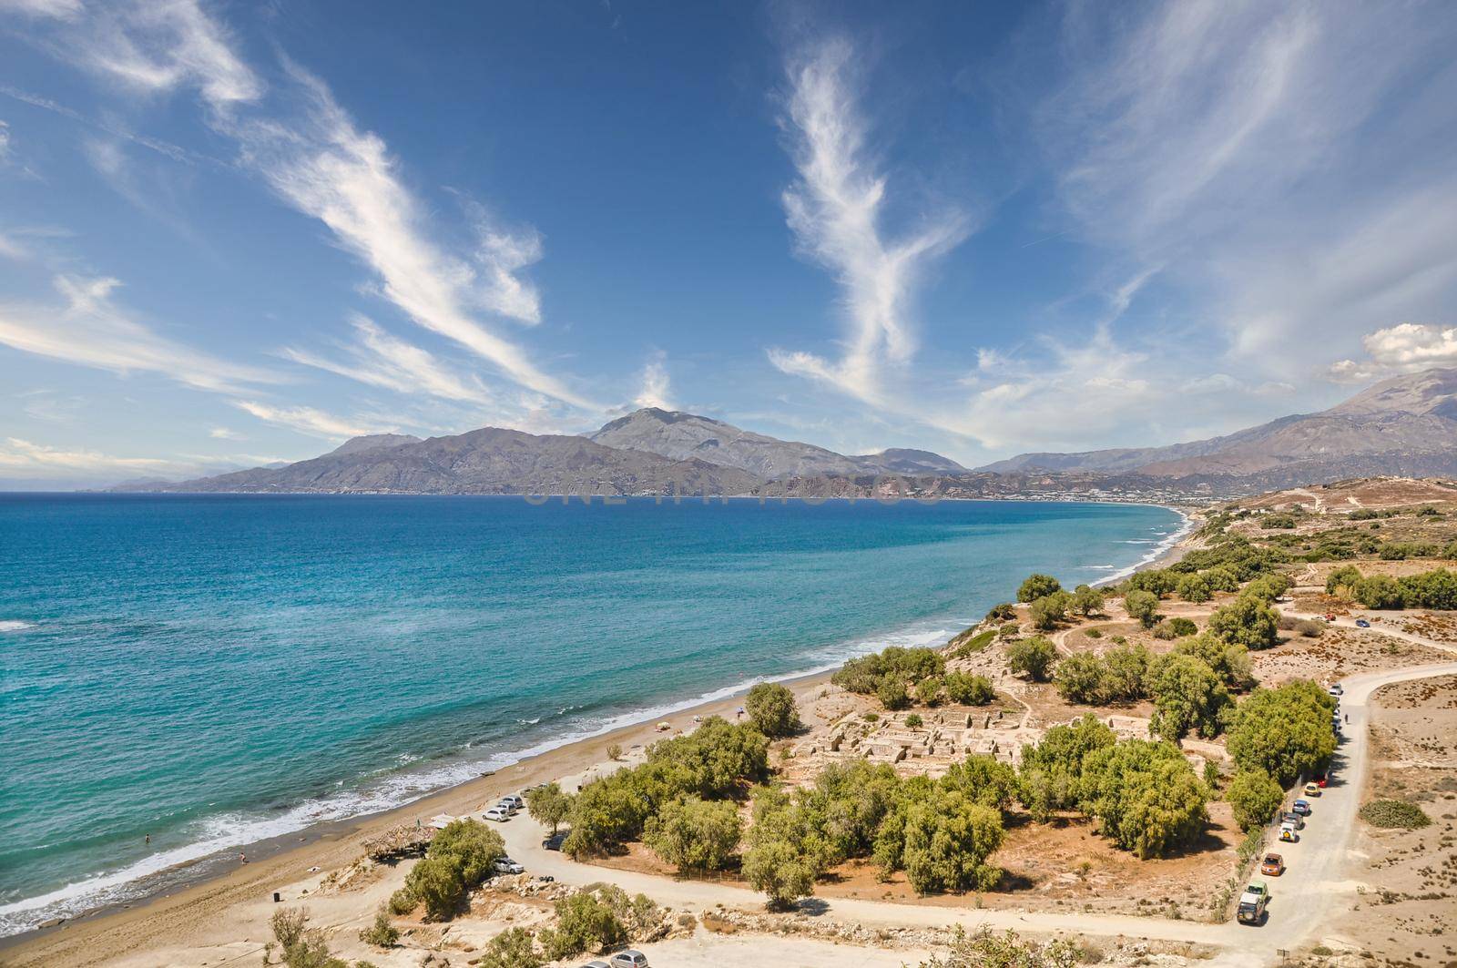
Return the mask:
<path id="1" fill-rule="evenodd" d="M 711 417 L 647 407 L 603 426 L 592 440 L 685 461 L 698 458 L 749 471 L 765 480 L 785 477 L 854 477 L 860 474 L 956 474 L 963 468 L 930 450 L 893 448 L 883 453 L 845 456 L 813 443 L 779 440 Z"/>

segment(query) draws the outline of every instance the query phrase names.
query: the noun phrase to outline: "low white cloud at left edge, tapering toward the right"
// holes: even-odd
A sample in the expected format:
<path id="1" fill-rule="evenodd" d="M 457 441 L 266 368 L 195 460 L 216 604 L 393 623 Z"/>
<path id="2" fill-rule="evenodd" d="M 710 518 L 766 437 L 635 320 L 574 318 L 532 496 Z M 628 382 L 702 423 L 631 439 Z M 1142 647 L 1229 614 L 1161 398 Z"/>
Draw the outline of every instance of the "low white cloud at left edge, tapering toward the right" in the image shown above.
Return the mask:
<path id="1" fill-rule="evenodd" d="M 277 383 L 261 369 L 220 360 L 162 337 L 117 306 L 115 278 L 57 276 L 60 306 L 0 305 L 0 344 L 114 373 L 160 373 L 178 383 L 236 392 L 252 383 Z"/>

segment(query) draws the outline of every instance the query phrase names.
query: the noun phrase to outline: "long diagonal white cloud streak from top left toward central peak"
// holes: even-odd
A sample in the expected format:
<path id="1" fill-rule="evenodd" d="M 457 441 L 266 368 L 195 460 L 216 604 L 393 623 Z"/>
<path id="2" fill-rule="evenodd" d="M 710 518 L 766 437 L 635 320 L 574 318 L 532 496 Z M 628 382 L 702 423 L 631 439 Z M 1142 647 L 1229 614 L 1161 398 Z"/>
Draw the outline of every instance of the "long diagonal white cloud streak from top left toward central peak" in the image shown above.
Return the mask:
<path id="1" fill-rule="evenodd" d="M 455 251 L 405 187 L 382 137 L 358 128 L 321 79 L 287 58 L 278 82 L 265 85 L 197 0 L 87 4 L 54 20 L 42 42 L 63 60 L 136 90 L 195 89 L 207 124 L 233 140 L 243 169 L 322 222 L 369 267 L 376 293 L 412 322 L 468 347 L 527 391 L 602 410 L 479 316 L 541 322 L 539 292 L 525 277 L 542 257 L 535 229 L 508 230 L 466 201 L 476 241 Z"/>

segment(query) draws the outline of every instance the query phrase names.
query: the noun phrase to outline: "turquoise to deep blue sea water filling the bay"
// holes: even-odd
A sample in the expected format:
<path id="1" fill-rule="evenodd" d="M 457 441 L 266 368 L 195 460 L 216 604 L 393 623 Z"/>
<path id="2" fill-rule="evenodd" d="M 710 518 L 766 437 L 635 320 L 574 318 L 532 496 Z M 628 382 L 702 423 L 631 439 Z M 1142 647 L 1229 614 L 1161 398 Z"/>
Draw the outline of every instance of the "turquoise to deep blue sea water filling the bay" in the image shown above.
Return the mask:
<path id="1" fill-rule="evenodd" d="M 944 641 L 1029 571 L 1104 579 L 1180 526 L 1128 504 L 0 494 L 0 934 L 753 679 Z"/>

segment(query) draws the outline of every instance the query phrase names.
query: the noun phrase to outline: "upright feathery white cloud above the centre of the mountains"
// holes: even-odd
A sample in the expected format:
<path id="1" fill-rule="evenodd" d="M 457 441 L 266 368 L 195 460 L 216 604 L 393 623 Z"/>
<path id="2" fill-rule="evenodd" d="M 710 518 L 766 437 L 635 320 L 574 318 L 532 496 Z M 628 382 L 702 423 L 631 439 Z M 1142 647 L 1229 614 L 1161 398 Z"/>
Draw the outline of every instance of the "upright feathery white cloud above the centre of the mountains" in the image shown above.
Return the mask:
<path id="1" fill-rule="evenodd" d="M 881 220 L 887 179 L 867 147 L 867 124 L 855 105 L 855 50 L 842 39 L 803 51 L 790 63 L 785 127 L 798 181 L 784 208 L 798 249 L 830 270 L 845 292 L 849 332 L 839 360 L 772 350 L 785 373 L 826 380 L 867 402 L 884 397 L 883 363 L 905 364 L 915 353 L 911 303 L 928 262 L 966 238 L 963 214 L 946 207 L 902 239 L 887 239 Z"/>

